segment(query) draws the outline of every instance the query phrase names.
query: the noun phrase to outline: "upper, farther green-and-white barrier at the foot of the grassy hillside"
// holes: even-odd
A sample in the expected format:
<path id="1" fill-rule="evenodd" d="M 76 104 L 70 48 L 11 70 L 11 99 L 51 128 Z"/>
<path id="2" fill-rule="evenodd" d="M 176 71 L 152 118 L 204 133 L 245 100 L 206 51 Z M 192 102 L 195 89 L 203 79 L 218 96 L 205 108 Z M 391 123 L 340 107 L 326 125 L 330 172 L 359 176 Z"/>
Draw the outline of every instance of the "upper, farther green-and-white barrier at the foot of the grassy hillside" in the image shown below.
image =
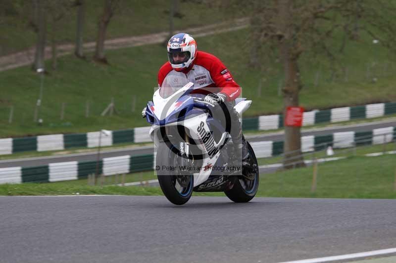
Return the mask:
<path id="1" fill-rule="evenodd" d="M 340 122 L 357 118 L 374 118 L 396 113 L 396 102 L 377 103 L 356 107 L 342 107 L 331 110 L 304 112 L 302 125 Z M 275 130 L 283 127 L 283 115 L 266 115 L 243 119 L 244 130 Z M 110 135 L 101 136 L 101 146 L 119 143 L 150 142 L 150 127 L 138 127 L 129 130 L 110 131 Z M 325 140 L 325 139 L 318 139 Z M 0 154 L 12 154 L 20 151 L 64 150 L 74 147 L 97 147 L 99 131 L 79 134 L 54 134 L 25 138 L 0 139 Z"/>

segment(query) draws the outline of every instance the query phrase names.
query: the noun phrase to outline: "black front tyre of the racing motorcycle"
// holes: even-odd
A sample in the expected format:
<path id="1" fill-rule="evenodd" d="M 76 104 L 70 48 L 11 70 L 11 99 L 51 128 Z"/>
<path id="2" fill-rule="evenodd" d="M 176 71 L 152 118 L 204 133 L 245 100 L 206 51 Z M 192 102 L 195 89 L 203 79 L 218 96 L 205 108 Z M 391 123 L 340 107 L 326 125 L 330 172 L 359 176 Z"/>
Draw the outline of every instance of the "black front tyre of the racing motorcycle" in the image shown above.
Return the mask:
<path id="1" fill-rule="evenodd" d="M 164 166 L 175 166 L 175 158 L 177 155 L 172 152 L 171 149 L 165 144 L 161 143 L 157 149 L 157 155 L 155 159 L 155 165 L 162 167 Z M 157 171 L 157 178 L 159 186 L 161 187 L 162 192 L 166 196 L 166 198 L 175 205 L 183 205 L 187 203 L 190 199 L 191 194 L 193 193 L 194 188 L 194 176 L 193 175 L 185 175 L 188 179 L 190 177 L 190 181 L 188 186 L 185 188 L 177 189 L 176 182 L 177 182 L 177 171 L 167 171 L 160 169 Z M 185 178 L 185 179 L 186 179 Z"/>

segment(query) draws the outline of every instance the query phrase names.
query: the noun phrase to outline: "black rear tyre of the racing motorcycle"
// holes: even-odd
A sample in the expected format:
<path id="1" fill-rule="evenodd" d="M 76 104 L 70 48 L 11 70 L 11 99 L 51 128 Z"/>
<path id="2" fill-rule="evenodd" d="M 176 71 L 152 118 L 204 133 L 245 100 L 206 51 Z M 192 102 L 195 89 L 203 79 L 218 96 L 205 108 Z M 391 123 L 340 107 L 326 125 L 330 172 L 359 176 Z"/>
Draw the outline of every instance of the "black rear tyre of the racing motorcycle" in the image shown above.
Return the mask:
<path id="1" fill-rule="evenodd" d="M 227 197 L 236 203 L 246 203 L 250 201 L 256 195 L 258 190 L 259 172 L 258 172 L 257 158 L 250 144 L 248 142 L 246 143 L 247 143 L 247 149 L 250 154 L 250 158 L 252 158 L 252 162 L 256 164 L 256 171 L 255 171 L 254 179 L 251 180 L 249 183 L 250 184 L 249 187 L 247 187 L 247 184 L 245 183 L 245 182 L 249 182 L 248 179 L 246 179 L 243 176 L 238 176 L 238 178 L 235 180 L 233 188 L 224 191 Z"/>

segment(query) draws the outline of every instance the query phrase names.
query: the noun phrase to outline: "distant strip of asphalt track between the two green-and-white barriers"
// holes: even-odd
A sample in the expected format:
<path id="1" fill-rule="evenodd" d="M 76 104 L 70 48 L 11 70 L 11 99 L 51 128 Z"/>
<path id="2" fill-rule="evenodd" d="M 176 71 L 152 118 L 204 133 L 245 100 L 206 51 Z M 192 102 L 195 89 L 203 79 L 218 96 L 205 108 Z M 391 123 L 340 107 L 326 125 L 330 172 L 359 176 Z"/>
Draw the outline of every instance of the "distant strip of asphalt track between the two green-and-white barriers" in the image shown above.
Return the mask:
<path id="1" fill-rule="evenodd" d="M 343 126 L 333 126 L 325 128 L 314 128 L 314 129 L 303 129 L 301 136 L 308 135 L 327 135 L 335 132 L 345 132 L 345 131 L 371 131 L 377 128 L 396 126 L 396 119 L 391 118 L 383 121 L 375 121 L 369 123 L 360 123 L 353 125 L 343 125 Z M 249 142 L 260 142 L 260 141 L 282 141 L 284 140 L 283 132 L 276 132 L 263 135 L 246 136 Z M 101 158 L 114 157 L 121 155 L 136 155 L 136 154 L 149 154 L 153 153 L 153 147 L 134 147 L 126 149 L 116 149 L 116 150 L 102 150 L 100 153 Z M 85 152 L 76 154 L 64 154 L 57 156 L 45 156 L 45 157 L 34 157 L 34 158 L 21 158 L 21 159 L 8 159 L 0 160 L 0 168 L 4 167 L 14 167 L 14 166 L 37 166 L 37 165 L 47 165 L 49 163 L 55 162 L 68 162 L 68 161 L 93 161 L 97 159 L 97 152 Z"/>

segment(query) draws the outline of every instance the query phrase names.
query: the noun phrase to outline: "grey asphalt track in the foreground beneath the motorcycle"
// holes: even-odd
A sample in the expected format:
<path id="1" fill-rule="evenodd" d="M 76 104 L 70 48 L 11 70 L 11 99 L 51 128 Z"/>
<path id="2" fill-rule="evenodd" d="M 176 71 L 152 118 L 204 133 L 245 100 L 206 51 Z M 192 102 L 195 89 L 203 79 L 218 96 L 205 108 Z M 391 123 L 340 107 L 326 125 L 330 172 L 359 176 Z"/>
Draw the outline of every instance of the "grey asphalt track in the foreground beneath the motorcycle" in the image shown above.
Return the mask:
<path id="1" fill-rule="evenodd" d="M 0 262 L 278 263 L 396 247 L 396 200 L 0 197 Z M 389 256 L 389 255 L 387 255 Z M 389 259 L 389 258 L 388 258 Z"/>

